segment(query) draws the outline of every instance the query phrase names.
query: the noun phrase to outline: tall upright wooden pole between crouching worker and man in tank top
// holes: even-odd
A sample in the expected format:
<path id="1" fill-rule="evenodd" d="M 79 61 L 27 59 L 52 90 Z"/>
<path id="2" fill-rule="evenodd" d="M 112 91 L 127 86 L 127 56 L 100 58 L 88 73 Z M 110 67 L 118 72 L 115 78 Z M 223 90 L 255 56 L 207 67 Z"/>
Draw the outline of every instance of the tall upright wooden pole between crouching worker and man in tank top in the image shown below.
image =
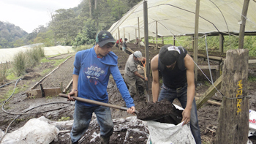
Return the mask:
<path id="1" fill-rule="evenodd" d="M 146 76 L 149 76 L 149 54 L 148 54 L 148 3 L 147 1 L 143 2 L 143 18 L 144 18 L 144 40 L 145 40 L 145 55 L 146 55 Z M 151 77 L 148 77 L 148 83 L 151 83 Z M 149 102 L 150 94 L 146 98 L 146 101 Z"/>

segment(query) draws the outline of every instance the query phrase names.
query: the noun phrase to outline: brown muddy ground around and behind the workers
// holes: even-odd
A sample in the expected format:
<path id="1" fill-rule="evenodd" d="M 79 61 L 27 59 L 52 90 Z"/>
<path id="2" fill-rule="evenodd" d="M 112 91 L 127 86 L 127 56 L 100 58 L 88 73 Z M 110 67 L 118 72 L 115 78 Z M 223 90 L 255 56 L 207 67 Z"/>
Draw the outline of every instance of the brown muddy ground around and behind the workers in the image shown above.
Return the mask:
<path id="1" fill-rule="evenodd" d="M 138 50 L 133 48 L 130 45 L 132 50 Z M 143 48 L 140 49 L 142 52 Z M 113 48 L 113 52 L 118 56 L 118 65 L 121 70 L 124 69 L 125 62 L 127 61 L 128 55 L 117 48 Z M 149 57 L 152 58 L 154 55 L 158 53 L 158 50 L 153 50 L 151 48 L 149 50 Z M 73 53 L 72 55 L 74 55 Z M 34 87 L 39 80 L 42 80 L 43 88 L 56 88 L 60 87 L 60 83 L 62 82 L 63 86 L 68 86 L 70 80 L 72 80 L 72 64 L 75 56 L 68 57 L 70 55 L 60 56 L 61 58 L 68 58 L 64 64 L 61 64 L 58 69 L 52 72 L 48 77 L 42 80 L 42 71 L 44 69 L 55 69 L 53 66 L 54 62 L 49 62 L 45 64 L 39 64 L 38 67 L 33 69 L 28 69 L 28 72 L 23 77 L 23 80 L 19 80 L 17 83 L 18 88 L 23 88 L 18 94 L 13 94 L 8 102 L 4 104 L 4 110 L 8 113 L 4 113 L 1 110 L 0 113 L 0 129 L 5 131 L 7 126 L 10 124 L 13 118 L 17 116 L 17 114 L 21 113 L 31 113 L 26 115 L 21 115 L 18 117 L 15 122 L 13 122 L 8 132 L 13 132 L 16 129 L 19 129 L 21 126 L 26 124 L 26 121 L 29 121 L 31 118 L 39 118 L 44 115 L 45 118 L 50 119 L 51 121 L 60 121 L 60 120 L 72 120 L 72 113 L 74 111 L 74 102 L 67 102 L 67 99 L 61 98 L 59 96 L 48 96 L 45 98 L 37 98 L 37 99 L 27 99 L 26 91 L 30 88 Z M 143 56 L 144 53 L 143 53 Z M 55 58 L 59 58 L 58 56 Z M 207 64 L 203 59 L 199 59 L 201 64 Z M 215 64 L 212 61 L 212 64 Z M 252 66 L 254 67 L 254 66 Z M 206 77 L 199 73 L 197 88 L 196 88 L 196 96 L 201 96 L 207 88 L 210 86 Z M 215 75 L 214 72 L 212 72 Z M 206 72 L 207 74 L 207 72 Z M 249 75 L 256 76 L 256 71 L 254 68 L 249 69 Z M 216 79 L 216 77 L 215 77 Z M 10 83 L 10 81 L 4 82 Z M 7 91 L 14 89 L 16 81 L 11 83 L 10 85 L 4 86 L 0 88 L 1 95 L 6 94 Z M 151 84 L 149 83 L 149 94 L 151 95 Z M 255 98 L 255 90 L 256 82 L 249 82 L 248 86 L 248 94 L 252 96 L 249 100 L 249 108 L 252 110 L 256 110 L 256 98 Z M 39 88 L 36 86 L 35 88 Z M 121 97 L 121 94 L 116 88 L 116 83 L 114 83 L 113 79 L 110 79 L 110 83 L 108 85 L 108 94 L 109 94 L 109 102 L 113 105 L 124 106 L 124 100 Z M 135 106 L 137 110 L 141 110 L 143 107 L 146 107 L 146 96 L 135 96 Z M 217 96 L 213 96 L 211 100 L 221 102 L 219 99 L 219 94 Z M 53 103 L 54 102 L 54 103 Z M 59 102 L 59 103 L 56 103 Z M 49 105 L 39 106 L 48 103 Z M 52 103 L 52 104 L 50 104 Z M 175 100 L 175 104 L 179 105 L 178 101 Z M 3 102 L 1 103 L 3 104 Z M 37 108 L 34 108 L 37 107 Z M 33 110 L 30 110 L 34 108 Z M 51 110 L 51 111 L 49 111 Z M 145 121 L 140 121 L 137 118 L 134 118 L 136 115 L 129 115 L 124 111 L 112 109 L 112 116 L 115 124 L 115 131 L 113 135 L 110 137 L 110 143 L 146 143 L 148 140 L 148 130 L 145 129 Z M 205 104 L 199 110 L 197 110 L 197 115 L 199 119 L 201 137 L 203 143 L 214 143 L 216 138 L 216 129 L 217 129 L 217 118 L 218 118 L 219 106 L 217 105 L 208 105 Z M 121 126 L 121 128 L 120 128 Z M 61 133 L 59 134 L 59 140 L 53 143 L 68 143 L 69 141 L 69 130 L 70 126 L 60 129 Z M 136 130 L 135 130 L 136 129 Z M 90 128 L 88 132 L 86 132 L 85 137 L 80 140 L 80 143 L 99 143 L 99 137 L 93 139 L 94 132 L 99 134 L 99 126 L 97 125 L 97 121 L 94 120 L 90 124 Z M 255 137 L 250 137 L 250 139 L 254 142 Z"/>

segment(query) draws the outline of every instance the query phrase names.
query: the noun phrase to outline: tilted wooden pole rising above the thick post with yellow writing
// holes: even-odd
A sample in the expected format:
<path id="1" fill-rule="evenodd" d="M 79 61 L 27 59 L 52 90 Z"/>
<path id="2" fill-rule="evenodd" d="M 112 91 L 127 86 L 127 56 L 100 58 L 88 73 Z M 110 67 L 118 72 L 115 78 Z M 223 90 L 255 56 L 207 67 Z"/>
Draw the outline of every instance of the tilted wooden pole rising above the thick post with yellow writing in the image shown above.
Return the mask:
<path id="1" fill-rule="evenodd" d="M 242 16 L 241 16 L 241 25 L 239 30 L 239 41 L 238 41 L 238 48 L 244 48 L 244 29 L 246 23 L 246 15 L 248 11 L 249 0 L 244 0 Z"/>

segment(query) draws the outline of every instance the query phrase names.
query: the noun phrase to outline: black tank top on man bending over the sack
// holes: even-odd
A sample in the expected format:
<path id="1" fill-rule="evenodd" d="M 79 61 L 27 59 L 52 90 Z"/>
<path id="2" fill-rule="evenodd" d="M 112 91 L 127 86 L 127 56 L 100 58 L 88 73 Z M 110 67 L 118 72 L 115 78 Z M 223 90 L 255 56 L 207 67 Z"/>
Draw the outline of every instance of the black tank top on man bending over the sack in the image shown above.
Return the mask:
<path id="1" fill-rule="evenodd" d="M 159 61 L 160 60 L 158 60 L 158 66 Z M 173 69 L 167 69 L 167 67 L 165 67 L 162 71 L 159 69 L 159 72 L 161 72 L 162 74 L 162 82 L 168 88 L 181 88 L 182 86 L 185 86 L 187 83 L 187 69 L 178 69 L 177 63 Z"/>

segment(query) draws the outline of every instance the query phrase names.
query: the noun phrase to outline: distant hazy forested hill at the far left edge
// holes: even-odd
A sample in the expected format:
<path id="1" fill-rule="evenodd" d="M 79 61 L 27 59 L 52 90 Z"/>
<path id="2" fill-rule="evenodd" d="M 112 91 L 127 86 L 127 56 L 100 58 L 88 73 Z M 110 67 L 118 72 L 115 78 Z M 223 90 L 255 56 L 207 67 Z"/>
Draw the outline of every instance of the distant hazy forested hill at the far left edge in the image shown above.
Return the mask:
<path id="1" fill-rule="evenodd" d="M 13 48 L 23 45 L 28 33 L 12 23 L 0 21 L 0 48 Z"/>

